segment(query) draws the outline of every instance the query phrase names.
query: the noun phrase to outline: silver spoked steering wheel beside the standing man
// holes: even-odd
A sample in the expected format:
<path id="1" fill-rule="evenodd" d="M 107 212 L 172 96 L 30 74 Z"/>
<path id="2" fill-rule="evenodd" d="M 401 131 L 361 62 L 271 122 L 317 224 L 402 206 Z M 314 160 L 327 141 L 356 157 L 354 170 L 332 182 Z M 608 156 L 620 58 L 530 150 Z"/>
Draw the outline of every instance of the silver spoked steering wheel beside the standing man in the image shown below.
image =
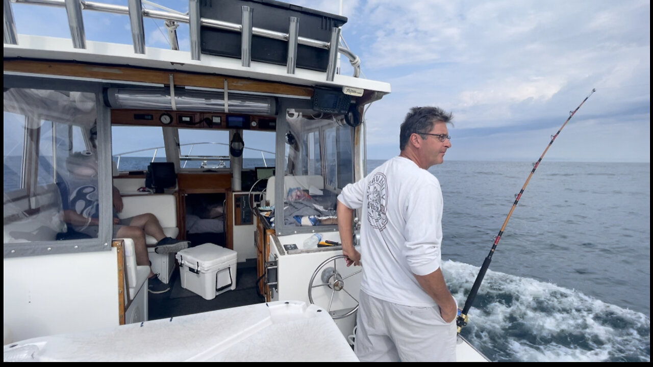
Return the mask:
<path id="1" fill-rule="evenodd" d="M 318 288 L 318 287 L 328 287 L 331 289 L 331 296 L 329 298 L 329 304 L 327 308 L 327 312 L 333 317 L 334 319 L 343 319 L 352 313 L 355 313 L 356 310 L 358 310 L 358 300 L 351 295 L 345 289 L 345 280 L 347 278 L 351 278 L 355 276 L 356 274 L 362 272 L 362 270 L 357 270 L 356 272 L 353 272 L 352 274 L 342 277 L 340 273 L 338 272 L 338 269 L 336 268 L 336 261 L 338 259 L 346 259 L 347 257 L 345 255 L 336 255 L 333 257 L 329 257 L 327 260 L 325 260 L 323 263 L 321 263 L 317 268 L 315 269 L 315 272 L 313 272 L 313 276 L 311 276 L 311 281 L 308 283 L 308 300 L 310 300 L 311 304 L 315 304 L 313 302 L 313 289 Z M 328 268 L 326 267 L 327 265 L 331 264 L 332 266 L 329 266 Z M 320 280 L 321 283 L 319 284 L 313 284 L 315 281 L 315 278 L 317 278 L 317 274 L 320 274 Z M 351 297 L 356 302 L 356 306 L 351 308 L 350 310 L 345 310 L 342 313 L 336 313 L 336 311 L 331 311 L 331 307 L 333 305 L 333 298 L 336 295 L 336 292 L 344 292 L 348 296 Z"/>

